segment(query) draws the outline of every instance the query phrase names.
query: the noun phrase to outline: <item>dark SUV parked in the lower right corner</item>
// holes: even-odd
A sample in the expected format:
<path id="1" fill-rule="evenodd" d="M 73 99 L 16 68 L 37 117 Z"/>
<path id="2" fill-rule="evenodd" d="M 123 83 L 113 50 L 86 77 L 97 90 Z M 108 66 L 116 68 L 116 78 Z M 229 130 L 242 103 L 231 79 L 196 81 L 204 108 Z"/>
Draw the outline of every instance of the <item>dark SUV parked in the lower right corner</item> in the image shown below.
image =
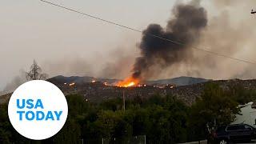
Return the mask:
<path id="1" fill-rule="evenodd" d="M 256 129 L 247 124 L 221 126 L 214 132 L 214 142 L 226 144 L 228 142 L 250 142 L 255 138 Z"/>

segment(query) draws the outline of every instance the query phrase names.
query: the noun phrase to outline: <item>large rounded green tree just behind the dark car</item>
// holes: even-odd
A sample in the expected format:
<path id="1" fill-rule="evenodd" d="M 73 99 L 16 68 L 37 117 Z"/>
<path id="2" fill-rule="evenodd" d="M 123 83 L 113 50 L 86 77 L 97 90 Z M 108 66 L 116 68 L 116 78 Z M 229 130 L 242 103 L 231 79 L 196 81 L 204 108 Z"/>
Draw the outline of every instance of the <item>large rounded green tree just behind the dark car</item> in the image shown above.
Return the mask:
<path id="1" fill-rule="evenodd" d="M 214 83 L 206 85 L 200 98 L 191 106 L 190 133 L 205 138 L 214 126 L 230 124 L 239 114 L 238 102 L 222 87 Z"/>

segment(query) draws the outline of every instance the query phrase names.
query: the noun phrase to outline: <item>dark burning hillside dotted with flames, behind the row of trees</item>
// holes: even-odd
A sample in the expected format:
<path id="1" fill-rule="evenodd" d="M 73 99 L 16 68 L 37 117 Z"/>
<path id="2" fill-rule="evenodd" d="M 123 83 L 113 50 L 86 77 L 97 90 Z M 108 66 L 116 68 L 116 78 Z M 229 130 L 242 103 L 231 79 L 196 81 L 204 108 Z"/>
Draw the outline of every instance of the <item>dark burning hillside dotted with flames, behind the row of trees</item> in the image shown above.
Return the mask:
<path id="1" fill-rule="evenodd" d="M 178 79 L 182 79 L 179 81 Z M 105 78 L 93 78 L 93 77 L 63 77 L 58 76 L 48 79 L 49 82 L 54 83 L 58 86 L 65 95 L 67 94 L 82 94 L 85 100 L 90 102 L 102 102 L 110 98 L 122 98 L 123 92 L 125 93 L 126 98 L 149 98 L 154 94 L 161 95 L 174 95 L 177 98 L 181 99 L 187 105 L 191 105 L 197 97 L 200 97 L 206 83 L 214 82 L 218 83 L 224 89 L 227 89 L 231 86 L 242 86 L 245 89 L 256 89 L 256 80 L 240 80 L 240 79 L 231 79 L 231 80 L 218 80 L 218 81 L 208 81 L 202 78 L 173 78 L 166 80 L 158 80 L 154 82 L 149 82 L 150 85 L 141 86 L 141 87 L 129 87 L 122 88 L 118 86 L 106 85 L 104 82 L 113 83 L 118 80 L 105 79 Z M 93 82 L 96 81 L 96 82 Z M 165 83 L 166 82 L 166 83 Z M 168 83 L 176 82 L 180 84 L 168 85 Z M 71 85 L 74 83 L 74 85 Z M 158 85 L 155 85 L 158 83 Z M 162 86 L 160 86 L 160 84 Z M 185 85 L 186 83 L 192 83 L 190 85 Z M 0 97 L 0 103 L 8 102 L 10 94 L 6 94 Z"/>

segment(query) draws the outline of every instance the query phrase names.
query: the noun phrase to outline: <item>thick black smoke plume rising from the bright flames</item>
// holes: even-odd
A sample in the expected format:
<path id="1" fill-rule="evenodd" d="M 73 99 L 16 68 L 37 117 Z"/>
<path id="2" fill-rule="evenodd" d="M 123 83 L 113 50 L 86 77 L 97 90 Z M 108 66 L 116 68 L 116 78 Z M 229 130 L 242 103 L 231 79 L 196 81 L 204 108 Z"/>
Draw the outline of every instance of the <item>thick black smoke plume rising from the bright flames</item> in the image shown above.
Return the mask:
<path id="1" fill-rule="evenodd" d="M 141 56 L 134 63 L 134 78 L 150 78 L 157 71 L 152 67 L 164 69 L 190 57 L 190 46 L 198 40 L 200 32 L 207 25 L 206 10 L 193 3 L 179 4 L 174 6 L 173 14 L 174 18 L 167 22 L 166 28 L 150 24 L 143 31 L 142 41 L 138 46 Z M 182 45 L 152 35 L 182 42 Z"/>

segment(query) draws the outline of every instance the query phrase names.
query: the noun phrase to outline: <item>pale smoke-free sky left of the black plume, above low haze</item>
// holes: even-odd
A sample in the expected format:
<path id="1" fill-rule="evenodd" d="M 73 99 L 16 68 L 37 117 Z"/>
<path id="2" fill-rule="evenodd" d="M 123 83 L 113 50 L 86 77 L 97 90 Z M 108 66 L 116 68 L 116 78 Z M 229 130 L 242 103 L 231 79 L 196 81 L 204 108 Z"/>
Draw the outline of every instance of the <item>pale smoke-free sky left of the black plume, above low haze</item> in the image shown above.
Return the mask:
<path id="1" fill-rule="evenodd" d="M 169 0 L 51 2 L 138 29 L 150 22 L 165 22 L 174 4 Z M 77 57 L 102 58 L 100 55 L 121 46 L 127 38 L 134 37 L 126 42 L 131 43 L 130 46 L 140 38 L 140 34 L 133 31 L 60 10 L 39 0 L 2 1 L 0 17 L 0 90 L 19 70 L 27 70 L 34 58 L 40 65 Z"/>

